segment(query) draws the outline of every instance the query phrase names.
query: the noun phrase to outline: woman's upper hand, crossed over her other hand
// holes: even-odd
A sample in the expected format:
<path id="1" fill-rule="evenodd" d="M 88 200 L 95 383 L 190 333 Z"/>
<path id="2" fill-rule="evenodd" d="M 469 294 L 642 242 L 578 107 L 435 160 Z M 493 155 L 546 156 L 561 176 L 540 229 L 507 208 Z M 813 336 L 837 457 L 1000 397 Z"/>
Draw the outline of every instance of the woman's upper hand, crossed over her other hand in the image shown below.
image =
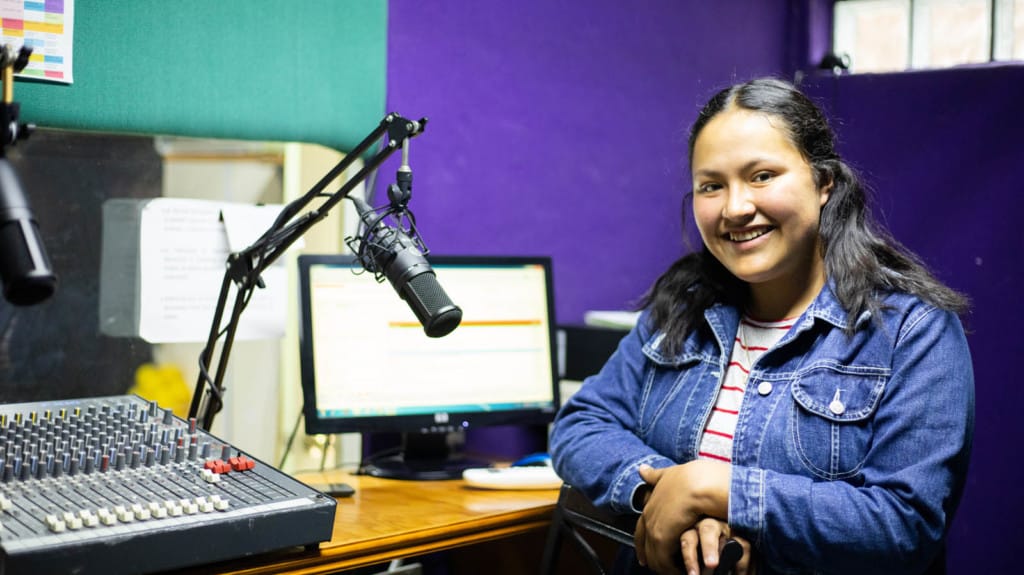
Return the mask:
<path id="1" fill-rule="evenodd" d="M 640 565 L 657 573 L 682 573 L 683 532 L 703 516 L 726 519 L 730 476 L 727 463 L 707 459 L 658 470 L 641 466 L 640 477 L 651 489 L 633 537 Z"/>

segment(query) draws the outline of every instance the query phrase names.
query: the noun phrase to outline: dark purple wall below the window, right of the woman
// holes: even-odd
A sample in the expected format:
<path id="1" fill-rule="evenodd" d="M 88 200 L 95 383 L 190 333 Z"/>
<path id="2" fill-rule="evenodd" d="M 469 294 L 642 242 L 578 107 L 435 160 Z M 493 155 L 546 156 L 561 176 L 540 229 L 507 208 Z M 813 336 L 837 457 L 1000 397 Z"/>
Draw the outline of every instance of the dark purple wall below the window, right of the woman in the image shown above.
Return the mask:
<path id="1" fill-rule="evenodd" d="M 967 294 L 977 388 L 968 486 L 949 572 L 1016 573 L 1024 517 L 1024 67 L 814 80 L 840 123 L 841 152 L 874 189 L 877 213 L 942 280 Z"/>

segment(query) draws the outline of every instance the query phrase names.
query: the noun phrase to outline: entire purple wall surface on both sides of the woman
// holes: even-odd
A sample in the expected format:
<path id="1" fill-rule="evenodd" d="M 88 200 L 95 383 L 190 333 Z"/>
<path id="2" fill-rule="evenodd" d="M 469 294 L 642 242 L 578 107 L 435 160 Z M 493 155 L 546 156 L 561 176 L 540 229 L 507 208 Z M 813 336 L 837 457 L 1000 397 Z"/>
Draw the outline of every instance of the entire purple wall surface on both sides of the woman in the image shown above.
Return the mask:
<path id="1" fill-rule="evenodd" d="M 683 252 L 685 129 L 698 105 L 732 81 L 816 61 L 828 19 L 822 0 L 790 12 L 741 0 L 498 4 L 390 0 L 388 109 L 430 118 L 411 164 L 431 250 L 553 256 L 560 322 L 628 306 Z M 1020 531 L 1024 477 L 999 454 L 1024 437 L 1010 411 L 1024 405 L 1010 368 L 1024 357 L 1013 330 L 1024 236 L 1012 229 L 1024 68 L 808 83 L 895 235 L 974 301 L 977 434 L 950 573 L 1015 572 L 1005 543 Z M 511 455 L 536 447 L 492 437 Z"/>

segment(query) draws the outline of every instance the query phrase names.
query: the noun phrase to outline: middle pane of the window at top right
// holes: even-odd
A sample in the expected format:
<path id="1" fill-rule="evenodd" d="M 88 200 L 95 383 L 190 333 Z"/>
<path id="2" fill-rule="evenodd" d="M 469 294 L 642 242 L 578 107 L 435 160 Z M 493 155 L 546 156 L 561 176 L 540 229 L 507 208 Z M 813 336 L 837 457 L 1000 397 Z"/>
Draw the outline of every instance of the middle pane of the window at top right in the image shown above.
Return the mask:
<path id="1" fill-rule="evenodd" d="M 913 68 L 988 61 L 989 0 L 915 0 Z"/>

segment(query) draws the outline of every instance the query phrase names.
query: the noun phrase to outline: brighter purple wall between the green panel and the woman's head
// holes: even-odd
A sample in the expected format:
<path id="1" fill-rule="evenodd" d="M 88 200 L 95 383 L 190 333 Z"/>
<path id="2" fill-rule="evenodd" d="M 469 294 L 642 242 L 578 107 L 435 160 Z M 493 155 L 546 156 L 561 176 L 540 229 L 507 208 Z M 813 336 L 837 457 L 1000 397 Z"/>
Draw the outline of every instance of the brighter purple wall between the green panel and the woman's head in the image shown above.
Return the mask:
<path id="1" fill-rule="evenodd" d="M 699 104 L 784 67 L 769 4 L 391 0 L 388 109 L 430 119 L 410 163 L 431 251 L 552 256 L 560 322 L 628 307 L 683 253 Z"/>

